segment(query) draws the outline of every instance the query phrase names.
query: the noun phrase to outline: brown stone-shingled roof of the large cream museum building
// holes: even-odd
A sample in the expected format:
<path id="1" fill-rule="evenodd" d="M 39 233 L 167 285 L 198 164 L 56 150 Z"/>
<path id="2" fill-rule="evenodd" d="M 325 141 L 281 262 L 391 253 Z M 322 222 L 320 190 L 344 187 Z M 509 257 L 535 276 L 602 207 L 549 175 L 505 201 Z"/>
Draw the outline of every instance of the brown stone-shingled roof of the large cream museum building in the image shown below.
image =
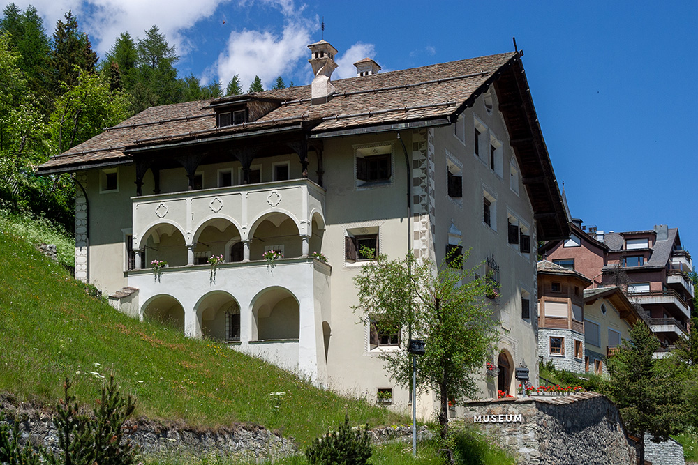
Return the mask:
<path id="1" fill-rule="evenodd" d="M 311 105 L 311 86 L 265 91 L 243 96 L 151 107 L 100 135 L 52 157 L 39 173 L 70 171 L 71 167 L 128 162 L 126 149 L 156 141 L 206 138 L 235 132 L 251 132 L 304 122 L 311 133 L 362 126 L 445 119 L 452 116 L 482 84 L 516 53 L 439 63 L 422 68 L 350 77 L 333 81 L 334 97 Z M 249 98 L 274 99 L 281 106 L 245 125 L 216 128 L 211 103 Z"/>

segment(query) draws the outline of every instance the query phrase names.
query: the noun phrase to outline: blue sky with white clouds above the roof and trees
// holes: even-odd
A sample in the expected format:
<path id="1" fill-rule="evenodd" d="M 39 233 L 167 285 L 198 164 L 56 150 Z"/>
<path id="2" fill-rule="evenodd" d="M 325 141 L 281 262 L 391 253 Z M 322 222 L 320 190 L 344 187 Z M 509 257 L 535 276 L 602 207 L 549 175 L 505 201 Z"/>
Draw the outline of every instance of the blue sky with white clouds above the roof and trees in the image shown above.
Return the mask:
<path id="1" fill-rule="evenodd" d="M 225 85 L 239 74 L 244 88 L 254 75 L 309 83 L 322 17 L 339 50 L 333 77 L 364 56 L 385 71 L 508 52 L 515 36 L 572 215 L 605 231 L 678 227 L 698 257 L 698 1 L 31 3 L 50 31 L 72 9 L 101 55 L 120 32 L 156 24 L 180 75 Z"/>

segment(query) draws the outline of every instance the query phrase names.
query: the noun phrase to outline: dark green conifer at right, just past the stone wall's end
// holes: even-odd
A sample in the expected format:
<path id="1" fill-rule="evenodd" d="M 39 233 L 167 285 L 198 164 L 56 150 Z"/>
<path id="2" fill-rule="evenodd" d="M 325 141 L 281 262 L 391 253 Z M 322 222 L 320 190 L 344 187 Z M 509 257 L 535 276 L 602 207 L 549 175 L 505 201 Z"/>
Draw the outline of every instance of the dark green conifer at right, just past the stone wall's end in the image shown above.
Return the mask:
<path id="1" fill-rule="evenodd" d="M 620 409 L 628 432 L 639 438 L 641 464 L 645 434 L 651 434 L 654 441 L 666 441 L 669 434 L 681 429 L 685 418 L 677 367 L 654 358 L 659 346 L 650 328 L 638 321 L 630 330 L 630 339 L 623 340 L 618 352 L 607 359 L 609 397 Z"/>

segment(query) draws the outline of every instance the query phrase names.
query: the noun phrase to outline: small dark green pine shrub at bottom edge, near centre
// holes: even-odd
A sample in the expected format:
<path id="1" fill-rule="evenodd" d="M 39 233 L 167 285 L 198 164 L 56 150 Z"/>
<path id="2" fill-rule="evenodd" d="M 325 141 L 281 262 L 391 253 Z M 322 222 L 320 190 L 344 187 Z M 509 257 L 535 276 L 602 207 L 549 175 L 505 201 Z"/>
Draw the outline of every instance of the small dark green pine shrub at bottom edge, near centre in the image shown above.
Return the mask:
<path id="1" fill-rule="evenodd" d="M 349 427 L 349 417 L 336 432 L 315 438 L 306 449 L 306 457 L 312 465 L 366 465 L 371 457 L 369 425 Z"/>

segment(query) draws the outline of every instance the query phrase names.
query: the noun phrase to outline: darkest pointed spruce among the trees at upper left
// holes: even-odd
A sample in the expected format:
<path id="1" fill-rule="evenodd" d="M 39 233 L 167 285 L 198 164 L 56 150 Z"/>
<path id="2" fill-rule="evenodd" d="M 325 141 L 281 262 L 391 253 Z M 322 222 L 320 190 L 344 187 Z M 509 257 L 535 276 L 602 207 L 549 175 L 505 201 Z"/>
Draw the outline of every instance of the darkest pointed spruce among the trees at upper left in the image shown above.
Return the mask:
<path id="1" fill-rule="evenodd" d="M 54 73 L 54 91 L 60 94 L 62 84 L 74 86 L 80 72 L 93 72 L 97 63 L 97 54 L 87 34 L 80 31 L 73 13 L 66 13 L 66 21 L 59 20 L 53 33 L 51 51 L 52 72 Z"/>

